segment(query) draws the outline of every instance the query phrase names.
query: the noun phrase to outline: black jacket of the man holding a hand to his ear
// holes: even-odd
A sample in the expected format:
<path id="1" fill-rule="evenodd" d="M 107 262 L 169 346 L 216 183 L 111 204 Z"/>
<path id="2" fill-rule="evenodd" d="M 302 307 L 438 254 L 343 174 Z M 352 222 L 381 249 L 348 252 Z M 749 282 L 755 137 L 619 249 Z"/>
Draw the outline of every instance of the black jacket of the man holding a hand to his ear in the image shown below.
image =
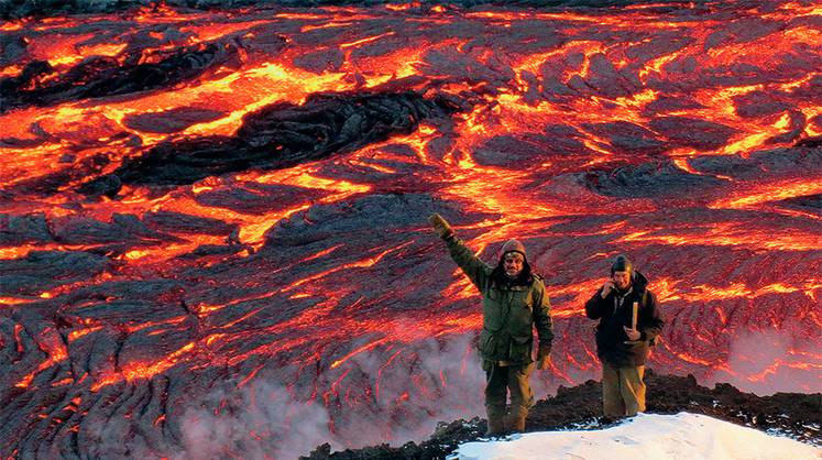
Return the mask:
<path id="1" fill-rule="evenodd" d="M 649 342 L 656 340 L 665 321 L 659 313 L 656 296 L 648 291 L 648 280 L 634 271 L 626 293 L 611 289 L 602 298 L 602 287 L 585 303 L 585 315 L 599 319 L 596 326 L 596 354 L 600 360 L 617 368 L 645 365 Z M 637 303 L 637 330 L 639 340 L 632 342 L 623 327 L 631 327 L 633 305 Z"/>

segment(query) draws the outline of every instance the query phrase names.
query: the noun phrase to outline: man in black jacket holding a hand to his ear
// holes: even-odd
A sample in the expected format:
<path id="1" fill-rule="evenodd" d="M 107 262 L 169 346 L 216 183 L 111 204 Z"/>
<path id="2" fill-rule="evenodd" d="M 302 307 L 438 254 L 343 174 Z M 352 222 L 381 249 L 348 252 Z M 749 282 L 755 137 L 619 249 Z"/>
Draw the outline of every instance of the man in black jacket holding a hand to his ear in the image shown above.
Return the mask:
<path id="1" fill-rule="evenodd" d="M 585 315 L 599 319 L 596 354 L 602 362 L 602 406 L 605 417 L 634 416 L 645 410 L 645 361 L 665 321 L 648 280 L 620 255 L 611 277 L 585 304 Z"/>

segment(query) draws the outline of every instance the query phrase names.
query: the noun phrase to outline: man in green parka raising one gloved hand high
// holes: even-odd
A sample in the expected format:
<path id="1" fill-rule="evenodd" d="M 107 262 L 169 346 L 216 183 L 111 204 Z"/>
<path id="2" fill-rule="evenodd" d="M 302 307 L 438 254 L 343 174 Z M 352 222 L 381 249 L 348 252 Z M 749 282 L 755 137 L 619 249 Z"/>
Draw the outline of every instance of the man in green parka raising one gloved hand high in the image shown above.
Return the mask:
<path id="1" fill-rule="evenodd" d="M 539 335 L 537 369 L 550 365 L 554 332 L 550 303 L 542 280 L 531 273 L 525 247 L 520 242 L 506 242 L 500 262 L 492 267 L 454 236 L 440 215 L 431 215 L 428 220 L 446 241 L 453 261 L 482 294 L 479 349 L 485 371 L 486 435 L 523 431 L 525 417 L 534 405 L 528 377 L 534 370 L 531 350 L 535 326 Z M 505 402 L 508 391 L 511 413 L 506 430 Z"/>

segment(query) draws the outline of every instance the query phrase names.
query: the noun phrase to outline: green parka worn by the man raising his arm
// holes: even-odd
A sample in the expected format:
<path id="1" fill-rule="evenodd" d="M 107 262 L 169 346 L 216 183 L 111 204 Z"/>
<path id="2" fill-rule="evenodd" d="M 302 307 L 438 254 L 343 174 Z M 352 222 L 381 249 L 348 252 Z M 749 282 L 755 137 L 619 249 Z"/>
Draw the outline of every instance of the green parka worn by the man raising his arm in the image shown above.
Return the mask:
<path id="1" fill-rule="evenodd" d="M 494 269 L 481 261 L 457 237 L 446 240 L 457 265 L 482 294 L 482 332 L 480 354 L 485 361 L 505 364 L 534 362 L 534 327 L 539 335 L 539 349 L 548 353 L 554 331 L 550 302 L 545 284 L 531 275 L 528 284 L 501 284 L 494 280 Z"/>

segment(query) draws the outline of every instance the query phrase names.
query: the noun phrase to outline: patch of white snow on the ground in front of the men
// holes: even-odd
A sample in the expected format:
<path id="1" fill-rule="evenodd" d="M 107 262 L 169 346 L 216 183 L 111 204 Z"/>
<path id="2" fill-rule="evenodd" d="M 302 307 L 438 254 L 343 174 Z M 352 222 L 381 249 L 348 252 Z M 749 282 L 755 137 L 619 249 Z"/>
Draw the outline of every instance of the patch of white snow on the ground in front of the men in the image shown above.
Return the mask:
<path id="1" fill-rule="evenodd" d="M 544 431 L 467 442 L 460 460 L 820 460 L 822 449 L 704 415 L 639 414 L 596 431 Z"/>

